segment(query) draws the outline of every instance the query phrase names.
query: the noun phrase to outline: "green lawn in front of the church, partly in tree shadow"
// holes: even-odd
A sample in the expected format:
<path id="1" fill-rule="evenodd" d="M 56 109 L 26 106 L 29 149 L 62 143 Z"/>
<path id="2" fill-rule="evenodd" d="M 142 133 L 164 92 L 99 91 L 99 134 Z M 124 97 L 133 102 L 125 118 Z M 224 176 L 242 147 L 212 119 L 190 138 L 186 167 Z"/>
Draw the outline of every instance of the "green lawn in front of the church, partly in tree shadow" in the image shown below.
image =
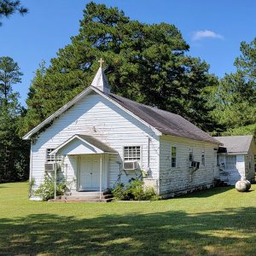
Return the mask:
<path id="1" fill-rule="evenodd" d="M 0 255 L 255 255 L 256 185 L 167 201 L 28 201 L 0 184 Z"/>

